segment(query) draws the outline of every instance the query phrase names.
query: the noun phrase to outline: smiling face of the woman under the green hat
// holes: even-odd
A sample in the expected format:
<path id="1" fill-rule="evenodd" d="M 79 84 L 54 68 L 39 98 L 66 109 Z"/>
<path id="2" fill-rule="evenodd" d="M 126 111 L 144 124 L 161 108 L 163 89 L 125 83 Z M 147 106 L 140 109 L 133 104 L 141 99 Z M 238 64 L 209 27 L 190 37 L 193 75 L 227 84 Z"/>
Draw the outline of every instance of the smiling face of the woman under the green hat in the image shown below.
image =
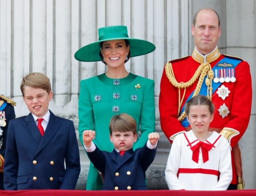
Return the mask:
<path id="1" fill-rule="evenodd" d="M 126 46 L 123 39 L 110 40 L 102 43 L 101 54 L 108 68 L 124 67 L 129 49 L 130 46 Z"/>

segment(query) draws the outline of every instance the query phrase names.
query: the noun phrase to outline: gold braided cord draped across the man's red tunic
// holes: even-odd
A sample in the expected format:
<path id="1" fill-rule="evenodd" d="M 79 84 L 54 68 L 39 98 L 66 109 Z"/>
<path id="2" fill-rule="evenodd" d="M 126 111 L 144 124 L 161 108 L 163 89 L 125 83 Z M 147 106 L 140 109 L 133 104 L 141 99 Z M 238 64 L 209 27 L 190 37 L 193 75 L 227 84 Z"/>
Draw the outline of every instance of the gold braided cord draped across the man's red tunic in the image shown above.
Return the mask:
<path id="1" fill-rule="evenodd" d="M 175 79 L 172 64 L 170 62 L 167 62 L 164 68 L 165 68 L 166 76 L 169 79 L 169 81 L 171 82 L 171 84 L 179 89 L 179 111 L 180 111 L 180 107 L 182 105 L 183 98 L 184 98 L 184 95 L 183 95 L 183 98 L 180 101 L 180 89 L 184 89 L 184 93 L 185 93 L 186 88 L 193 85 L 193 83 L 198 78 L 199 78 L 198 83 L 197 83 L 196 89 L 193 93 L 193 96 L 196 96 L 196 95 L 199 94 L 199 91 L 201 90 L 201 87 L 203 85 L 204 77 L 207 76 L 206 81 L 205 81 L 205 84 L 206 84 L 207 90 L 208 90 L 207 91 L 207 96 L 208 96 L 208 99 L 212 100 L 212 92 L 213 92 L 212 80 L 213 80 L 213 77 L 214 77 L 214 73 L 213 73 L 211 65 L 208 62 L 202 63 L 198 67 L 198 69 L 194 73 L 193 77 L 189 81 L 180 82 L 180 83 Z M 178 111 L 178 115 L 179 115 L 179 111 Z M 186 113 L 184 111 L 179 116 L 178 120 L 181 122 L 185 119 L 185 117 L 186 117 Z"/>

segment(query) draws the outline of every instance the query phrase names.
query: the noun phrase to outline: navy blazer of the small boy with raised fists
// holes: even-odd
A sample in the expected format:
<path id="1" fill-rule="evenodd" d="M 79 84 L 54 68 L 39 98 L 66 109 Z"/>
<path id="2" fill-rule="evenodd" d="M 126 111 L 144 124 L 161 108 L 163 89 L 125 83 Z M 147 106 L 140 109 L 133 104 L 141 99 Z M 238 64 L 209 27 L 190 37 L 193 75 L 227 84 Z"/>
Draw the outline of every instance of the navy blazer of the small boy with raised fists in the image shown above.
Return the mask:
<path id="1" fill-rule="evenodd" d="M 87 154 L 104 175 L 102 190 L 147 190 L 145 172 L 154 161 L 156 148 L 131 148 L 123 156 L 115 149 L 109 153 L 96 148 Z"/>

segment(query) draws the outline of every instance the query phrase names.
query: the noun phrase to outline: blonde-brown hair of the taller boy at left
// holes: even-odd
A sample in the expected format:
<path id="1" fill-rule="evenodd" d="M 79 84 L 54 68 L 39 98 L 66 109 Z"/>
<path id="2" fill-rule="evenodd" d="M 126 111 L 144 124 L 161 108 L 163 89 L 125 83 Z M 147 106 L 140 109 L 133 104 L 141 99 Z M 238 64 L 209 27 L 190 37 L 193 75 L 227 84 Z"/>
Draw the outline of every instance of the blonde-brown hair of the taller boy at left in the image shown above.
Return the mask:
<path id="1" fill-rule="evenodd" d="M 29 73 L 27 76 L 22 78 L 20 84 L 22 96 L 24 96 L 24 88 L 26 86 L 43 89 L 47 91 L 48 94 L 52 91 L 50 79 L 43 73 L 39 72 Z"/>

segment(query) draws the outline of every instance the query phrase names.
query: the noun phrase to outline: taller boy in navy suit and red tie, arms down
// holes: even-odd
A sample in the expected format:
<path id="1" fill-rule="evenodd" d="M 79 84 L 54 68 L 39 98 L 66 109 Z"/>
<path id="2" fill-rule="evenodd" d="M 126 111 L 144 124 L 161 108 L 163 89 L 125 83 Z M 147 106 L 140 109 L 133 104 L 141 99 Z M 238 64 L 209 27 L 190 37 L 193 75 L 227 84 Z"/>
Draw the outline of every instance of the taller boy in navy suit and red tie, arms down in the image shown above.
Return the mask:
<path id="1" fill-rule="evenodd" d="M 20 89 L 30 113 L 9 122 L 5 190 L 75 189 L 80 173 L 75 128 L 48 110 L 53 97 L 49 78 L 30 73 Z"/>

